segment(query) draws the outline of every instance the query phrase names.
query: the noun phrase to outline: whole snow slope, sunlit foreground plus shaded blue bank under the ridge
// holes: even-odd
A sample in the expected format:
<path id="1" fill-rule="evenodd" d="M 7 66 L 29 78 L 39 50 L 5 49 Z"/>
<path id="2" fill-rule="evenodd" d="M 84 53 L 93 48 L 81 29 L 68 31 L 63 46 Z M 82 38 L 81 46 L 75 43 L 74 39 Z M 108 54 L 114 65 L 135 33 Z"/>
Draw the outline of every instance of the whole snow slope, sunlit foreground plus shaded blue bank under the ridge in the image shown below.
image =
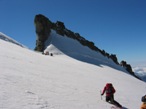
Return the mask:
<path id="1" fill-rule="evenodd" d="M 140 108 L 145 82 L 53 31 L 46 44 L 53 56 L 0 40 L 0 109 L 110 109 L 100 96 L 107 82 L 121 105 Z"/>

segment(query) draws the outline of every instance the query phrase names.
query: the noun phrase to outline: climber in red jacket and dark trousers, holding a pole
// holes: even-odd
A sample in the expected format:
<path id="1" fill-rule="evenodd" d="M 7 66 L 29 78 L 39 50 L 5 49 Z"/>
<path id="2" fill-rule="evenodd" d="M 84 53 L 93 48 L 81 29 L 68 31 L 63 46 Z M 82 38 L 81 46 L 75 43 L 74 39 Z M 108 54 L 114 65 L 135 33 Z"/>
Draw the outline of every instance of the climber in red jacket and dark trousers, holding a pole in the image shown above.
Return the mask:
<path id="1" fill-rule="evenodd" d="M 109 102 L 120 108 L 122 107 L 121 104 L 119 104 L 117 101 L 114 100 L 114 93 L 116 92 L 116 90 L 114 89 L 112 83 L 106 84 L 101 95 L 104 95 L 105 92 L 106 92 L 106 102 Z"/>

